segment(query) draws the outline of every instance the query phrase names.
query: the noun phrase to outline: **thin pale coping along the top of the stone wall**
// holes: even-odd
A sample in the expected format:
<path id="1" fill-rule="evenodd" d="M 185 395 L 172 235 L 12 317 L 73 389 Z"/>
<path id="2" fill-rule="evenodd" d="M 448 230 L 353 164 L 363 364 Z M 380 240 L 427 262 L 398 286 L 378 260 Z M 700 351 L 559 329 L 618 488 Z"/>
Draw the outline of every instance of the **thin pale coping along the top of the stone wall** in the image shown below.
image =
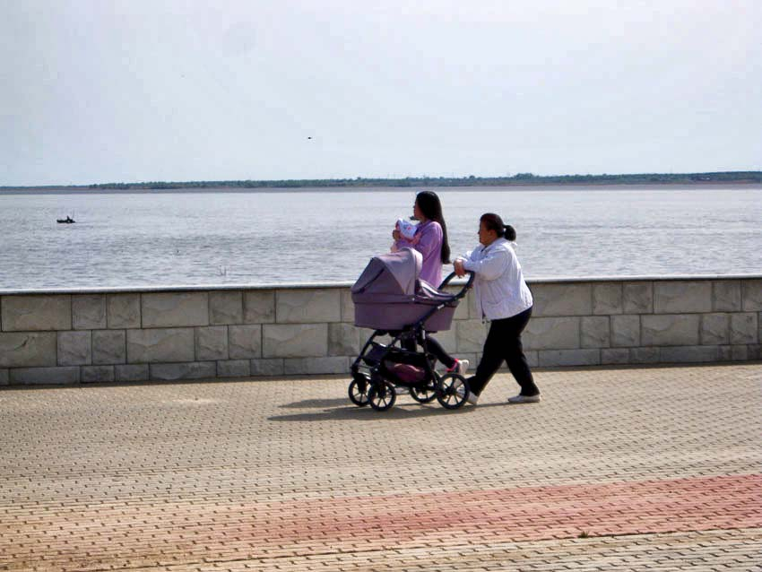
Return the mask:
<path id="1" fill-rule="evenodd" d="M 759 280 L 762 274 L 665 274 L 662 276 L 557 276 L 550 278 L 527 279 L 529 284 L 552 284 L 569 282 L 668 282 L 691 280 Z M 102 288 L 37 288 L 37 289 L 0 289 L 0 296 L 25 294 L 119 294 L 135 292 L 193 292 L 206 290 L 299 290 L 315 288 L 349 288 L 354 282 L 282 282 L 278 284 L 199 284 L 167 286 L 125 286 Z M 462 284 L 455 280 L 452 284 Z"/>

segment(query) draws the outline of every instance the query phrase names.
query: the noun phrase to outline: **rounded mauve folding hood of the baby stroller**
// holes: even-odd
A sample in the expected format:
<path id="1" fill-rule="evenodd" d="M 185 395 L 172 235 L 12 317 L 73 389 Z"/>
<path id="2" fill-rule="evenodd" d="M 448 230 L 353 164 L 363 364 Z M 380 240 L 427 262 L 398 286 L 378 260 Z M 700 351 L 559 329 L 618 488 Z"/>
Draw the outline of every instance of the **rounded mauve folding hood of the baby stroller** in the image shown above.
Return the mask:
<path id="1" fill-rule="evenodd" d="M 368 296 L 412 296 L 423 256 L 412 248 L 374 256 L 352 286 L 356 294 Z"/>

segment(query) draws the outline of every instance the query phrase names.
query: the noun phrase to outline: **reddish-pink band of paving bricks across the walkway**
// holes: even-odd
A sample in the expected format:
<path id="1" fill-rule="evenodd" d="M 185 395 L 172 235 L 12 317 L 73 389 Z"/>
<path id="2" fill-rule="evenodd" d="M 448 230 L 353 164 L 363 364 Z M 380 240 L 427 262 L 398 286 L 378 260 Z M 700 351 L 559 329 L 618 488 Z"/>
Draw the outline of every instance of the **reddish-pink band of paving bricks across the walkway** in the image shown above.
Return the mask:
<path id="1" fill-rule="evenodd" d="M 283 552 L 322 554 L 326 547 L 339 552 L 430 549 L 456 539 L 485 544 L 583 533 L 762 528 L 760 492 L 762 475 L 754 474 L 236 506 L 177 504 L 158 512 L 92 507 L 68 513 L 52 527 L 49 515 L 3 524 L 6 556 L 0 564 L 25 569 L 38 563 L 61 570 L 134 565 L 136 558 L 167 558 L 163 545 L 168 541 L 172 551 L 188 559 L 226 553 L 250 559 Z"/>

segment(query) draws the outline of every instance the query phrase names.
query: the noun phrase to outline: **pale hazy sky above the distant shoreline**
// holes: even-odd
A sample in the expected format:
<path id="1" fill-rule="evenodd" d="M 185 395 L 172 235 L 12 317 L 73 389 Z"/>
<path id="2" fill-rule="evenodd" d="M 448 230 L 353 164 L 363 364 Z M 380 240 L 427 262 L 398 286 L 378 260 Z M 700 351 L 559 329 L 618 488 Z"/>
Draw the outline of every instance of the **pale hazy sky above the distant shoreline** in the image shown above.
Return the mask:
<path id="1" fill-rule="evenodd" d="M 0 0 L 0 186 L 762 169 L 758 0 Z"/>

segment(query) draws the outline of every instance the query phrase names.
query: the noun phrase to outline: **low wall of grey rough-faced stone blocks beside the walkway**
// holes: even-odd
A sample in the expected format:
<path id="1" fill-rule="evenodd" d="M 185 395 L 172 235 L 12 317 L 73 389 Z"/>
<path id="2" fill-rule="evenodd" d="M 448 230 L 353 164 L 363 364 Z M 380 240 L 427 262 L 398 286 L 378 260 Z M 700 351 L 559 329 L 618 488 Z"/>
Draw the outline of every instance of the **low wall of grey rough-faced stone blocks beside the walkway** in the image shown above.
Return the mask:
<path id="1" fill-rule="evenodd" d="M 534 367 L 762 359 L 762 278 L 532 282 Z M 0 385 L 343 374 L 349 287 L 0 291 Z M 437 339 L 479 359 L 471 294 Z"/>

